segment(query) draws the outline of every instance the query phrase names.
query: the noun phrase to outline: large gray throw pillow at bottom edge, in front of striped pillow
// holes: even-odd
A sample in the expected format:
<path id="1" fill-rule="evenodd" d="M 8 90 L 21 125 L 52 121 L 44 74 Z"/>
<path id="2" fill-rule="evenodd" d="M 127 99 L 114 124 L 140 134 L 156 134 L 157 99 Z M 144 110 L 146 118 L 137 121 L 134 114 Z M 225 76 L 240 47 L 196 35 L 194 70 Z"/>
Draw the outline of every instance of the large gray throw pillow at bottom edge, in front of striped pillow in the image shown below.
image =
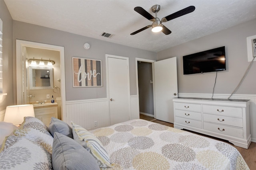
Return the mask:
<path id="1" fill-rule="evenodd" d="M 54 133 L 52 166 L 54 170 L 100 170 L 90 152 L 58 132 Z"/>

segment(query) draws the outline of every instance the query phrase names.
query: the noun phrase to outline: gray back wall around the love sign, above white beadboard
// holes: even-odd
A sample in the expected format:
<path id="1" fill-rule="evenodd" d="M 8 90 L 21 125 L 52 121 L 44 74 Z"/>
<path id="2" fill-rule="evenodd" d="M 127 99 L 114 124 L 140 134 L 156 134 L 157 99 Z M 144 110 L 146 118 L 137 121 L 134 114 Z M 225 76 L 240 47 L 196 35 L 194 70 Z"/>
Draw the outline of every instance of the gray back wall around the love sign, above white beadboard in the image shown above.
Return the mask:
<path id="1" fill-rule="evenodd" d="M 156 53 L 124 45 L 118 45 L 98 39 L 84 37 L 56 29 L 32 25 L 20 21 L 13 22 L 13 55 L 16 56 L 16 39 L 34 41 L 51 45 L 63 46 L 65 49 L 66 100 L 85 100 L 106 98 L 106 59 L 105 55 L 129 57 L 130 64 L 130 94 L 136 95 L 135 58 L 156 60 Z M 84 49 L 84 43 L 90 44 L 90 49 Z M 72 57 L 97 59 L 102 61 L 102 87 L 73 88 Z M 16 79 L 16 65 L 14 66 Z M 16 83 L 16 82 L 15 82 Z M 16 86 L 14 87 L 16 89 Z"/>

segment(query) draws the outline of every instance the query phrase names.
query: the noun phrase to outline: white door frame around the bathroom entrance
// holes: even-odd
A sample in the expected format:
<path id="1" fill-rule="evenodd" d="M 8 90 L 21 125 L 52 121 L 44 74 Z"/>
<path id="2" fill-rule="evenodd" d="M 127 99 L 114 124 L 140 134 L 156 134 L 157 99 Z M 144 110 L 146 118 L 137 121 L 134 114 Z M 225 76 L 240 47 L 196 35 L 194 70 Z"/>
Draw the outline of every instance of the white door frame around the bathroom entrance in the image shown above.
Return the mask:
<path id="1" fill-rule="evenodd" d="M 22 50 L 23 47 L 33 47 L 38 49 L 48 49 L 52 51 L 60 52 L 60 89 L 61 89 L 61 118 L 62 121 L 66 122 L 66 84 L 65 84 L 65 55 L 64 55 L 64 47 L 43 43 L 36 43 L 32 41 L 23 41 L 16 39 L 16 104 L 23 104 L 23 98 L 21 91 L 23 91 L 22 87 L 22 74 L 23 74 L 23 55 Z"/>

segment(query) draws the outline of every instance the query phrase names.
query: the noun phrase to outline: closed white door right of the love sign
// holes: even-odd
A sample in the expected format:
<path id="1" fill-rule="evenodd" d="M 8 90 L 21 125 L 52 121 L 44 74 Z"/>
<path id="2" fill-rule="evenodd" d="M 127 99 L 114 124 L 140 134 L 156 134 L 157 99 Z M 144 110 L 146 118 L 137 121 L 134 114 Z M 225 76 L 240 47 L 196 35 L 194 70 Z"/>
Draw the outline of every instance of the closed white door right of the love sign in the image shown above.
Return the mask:
<path id="1" fill-rule="evenodd" d="M 129 60 L 112 55 L 106 55 L 106 58 L 110 125 L 113 125 L 130 119 Z"/>

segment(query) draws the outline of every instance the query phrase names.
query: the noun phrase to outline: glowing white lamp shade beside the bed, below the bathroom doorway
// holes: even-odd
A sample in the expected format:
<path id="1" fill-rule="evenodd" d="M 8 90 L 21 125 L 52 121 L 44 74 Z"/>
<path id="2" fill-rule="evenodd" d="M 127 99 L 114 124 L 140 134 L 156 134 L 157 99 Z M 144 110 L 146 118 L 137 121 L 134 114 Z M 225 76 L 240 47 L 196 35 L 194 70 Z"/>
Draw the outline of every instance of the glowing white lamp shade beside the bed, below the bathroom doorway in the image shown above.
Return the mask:
<path id="1" fill-rule="evenodd" d="M 32 104 L 7 106 L 4 121 L 14 125 L 20 125 L 24 121 L 24 117 L 35 117 L 34 107 Z"/>

